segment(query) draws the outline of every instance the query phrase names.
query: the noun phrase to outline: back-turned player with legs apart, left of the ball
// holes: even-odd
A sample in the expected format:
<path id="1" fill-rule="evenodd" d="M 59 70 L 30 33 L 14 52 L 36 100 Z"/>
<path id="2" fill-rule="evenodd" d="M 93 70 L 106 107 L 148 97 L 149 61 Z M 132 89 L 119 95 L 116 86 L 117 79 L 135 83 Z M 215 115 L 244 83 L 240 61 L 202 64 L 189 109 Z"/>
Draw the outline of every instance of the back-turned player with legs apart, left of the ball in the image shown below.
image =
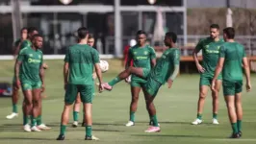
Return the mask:
<path id="1" fill-rule="evenodd" d="M 99 67 L 98 52 L 90 47 L 88 43 L 88 29 L 78 29 L 79 43 L 67 49 L 64 58 L 64 111 L 62 114 L 61 131 L 57 140 L 64 140 L 65 128 L 68 123 L 69 111 L 80 93 L 84 104 L 86 121 L 85 140 L 98 140 L 91 134 L 91 107 L 94 92 L 94 81 L 92 79 L 93 66 L 99 80 L 99 90 L 102 91 L 102 77 Z"/>

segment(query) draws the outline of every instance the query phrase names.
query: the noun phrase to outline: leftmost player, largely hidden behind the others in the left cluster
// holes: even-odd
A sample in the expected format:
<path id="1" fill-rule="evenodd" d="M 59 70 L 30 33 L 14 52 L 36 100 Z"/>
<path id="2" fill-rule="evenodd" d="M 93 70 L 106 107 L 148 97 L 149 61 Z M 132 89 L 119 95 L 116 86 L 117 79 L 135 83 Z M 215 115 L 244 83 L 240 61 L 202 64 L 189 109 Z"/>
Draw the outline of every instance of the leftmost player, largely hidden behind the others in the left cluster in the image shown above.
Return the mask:
<path id="1" fill-rule="evenodd" d="M 20 48 L 20 44 L 22 43 L 23 40 L 25 40 L 28 36 L 28 30 L 27 28 L 22 28 L 20 31 L 20 38 L 17 39 L 14 42 L 13 45 L 13 57 L 14 59 L 16 59 L 16 56 L 19 52 L 19 48 Z M 14 80 L 14 79 L 13 79 Z M 18 115 L 17 113 L 17 102 L 18 102 L 18 98 L 19 98 L 19 89 L 15 88 L 15 83 L 13 81 L 13 95 L 12 95 L 12 102 L 13 102 L 13 112 L 10 115 L 7 115 L 6 118 L 7 119 L 13 119 L 14 117 L 16 117 Z"/>

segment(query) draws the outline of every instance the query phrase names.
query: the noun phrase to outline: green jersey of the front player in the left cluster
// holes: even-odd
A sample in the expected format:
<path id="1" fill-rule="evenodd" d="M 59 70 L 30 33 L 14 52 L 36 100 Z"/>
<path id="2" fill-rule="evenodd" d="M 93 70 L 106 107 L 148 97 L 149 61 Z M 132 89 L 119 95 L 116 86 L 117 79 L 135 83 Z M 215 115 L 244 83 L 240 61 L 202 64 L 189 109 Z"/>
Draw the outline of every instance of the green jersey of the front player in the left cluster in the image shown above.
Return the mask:
<path id="1" fill-rule="evenodd" d="M 18 61 L 21 61 L 19 69 L 20 81 L 40 81 L 39 70 L 43 63 L 42 52 L 31 47 L 25 47 L 19 51 Z"/>

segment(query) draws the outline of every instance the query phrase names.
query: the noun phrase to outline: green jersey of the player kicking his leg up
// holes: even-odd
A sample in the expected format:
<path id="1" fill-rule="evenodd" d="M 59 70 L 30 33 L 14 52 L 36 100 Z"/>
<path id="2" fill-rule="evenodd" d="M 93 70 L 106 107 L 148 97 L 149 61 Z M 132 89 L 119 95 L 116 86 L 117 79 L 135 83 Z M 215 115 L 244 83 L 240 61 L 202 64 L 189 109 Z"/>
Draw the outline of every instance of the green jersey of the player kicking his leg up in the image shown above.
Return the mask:
<path id="1" fill-rule="evenodd" d="M 165 84 L 174 72 L 174 66 L 179 64 L 180 50 L 178 48 L 168 48 L 151 70 L 149 77 L 160 84 Z"/>

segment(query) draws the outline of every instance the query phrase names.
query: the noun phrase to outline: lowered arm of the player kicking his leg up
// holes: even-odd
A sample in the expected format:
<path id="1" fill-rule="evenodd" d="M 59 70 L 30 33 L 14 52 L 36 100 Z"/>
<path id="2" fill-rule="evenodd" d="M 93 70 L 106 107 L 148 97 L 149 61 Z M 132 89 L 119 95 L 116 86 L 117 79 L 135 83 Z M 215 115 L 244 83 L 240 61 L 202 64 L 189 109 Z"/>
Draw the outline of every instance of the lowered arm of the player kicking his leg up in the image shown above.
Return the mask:
<path id="1" fill-rule="evenodd" d="M 171 59 L 171 62 L 174 65 L 174 70 L 173 73 L 171 74 L 171 76 L 168 78 L 168 88 L 171 87 L 172 82 L 175 80 L 175 78 L 178 76 L 179 74 L 179 70 L 180 70 L 180 51 L 175 51 L 173 54 L 173 57 Z"/>

